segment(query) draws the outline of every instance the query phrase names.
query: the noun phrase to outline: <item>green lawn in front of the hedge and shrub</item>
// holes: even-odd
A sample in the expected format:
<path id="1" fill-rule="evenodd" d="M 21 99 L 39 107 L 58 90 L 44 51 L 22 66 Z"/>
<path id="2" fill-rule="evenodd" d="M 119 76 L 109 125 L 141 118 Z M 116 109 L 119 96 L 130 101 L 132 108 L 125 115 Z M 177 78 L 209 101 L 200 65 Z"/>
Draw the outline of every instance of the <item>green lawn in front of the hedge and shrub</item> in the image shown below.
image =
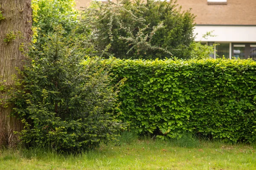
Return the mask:
<path id="1" fill-rule="evenodd" d="M 255 145 L 224 144 L 186 136 L 180 140 L 139 139 L 125 133 L 120 142 L 77 155 L 55 150 L 0 151 L 0 170 L 255 170 Z M 216 151 L 218 150 L 218 151 Z"/>

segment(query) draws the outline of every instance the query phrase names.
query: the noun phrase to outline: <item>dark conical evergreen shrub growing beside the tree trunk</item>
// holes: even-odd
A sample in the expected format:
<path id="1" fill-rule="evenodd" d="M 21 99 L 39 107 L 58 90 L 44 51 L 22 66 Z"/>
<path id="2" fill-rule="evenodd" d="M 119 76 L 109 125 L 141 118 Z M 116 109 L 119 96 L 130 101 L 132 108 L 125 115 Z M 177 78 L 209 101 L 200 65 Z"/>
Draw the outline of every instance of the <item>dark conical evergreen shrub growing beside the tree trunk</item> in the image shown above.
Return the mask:
<path id="1" fill-rule="evenodd" d="M 20 139 L 28 146 L 91 149 L 116 139 L 122 127 L 112 116 L 119 85 L 110 85 L 110 66 L 85 55 L 78 36 L 63 34 L 58 26 L 42 51 L 30 51 L 17 82 L 22 90 L 12 102 L 25 125 Z"/>

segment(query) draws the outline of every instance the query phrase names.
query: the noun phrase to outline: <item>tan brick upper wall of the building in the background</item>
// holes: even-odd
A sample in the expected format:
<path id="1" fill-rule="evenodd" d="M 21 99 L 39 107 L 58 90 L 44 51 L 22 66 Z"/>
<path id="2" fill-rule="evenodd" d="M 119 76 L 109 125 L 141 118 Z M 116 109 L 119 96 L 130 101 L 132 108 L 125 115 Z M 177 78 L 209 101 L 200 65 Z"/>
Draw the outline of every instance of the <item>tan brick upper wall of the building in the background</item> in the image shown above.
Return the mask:
<path id="1" fill-rule="evenodd" d="M 91 0 L 76 0 L 77 7 L 89 6 Z M 227 0 L 225 5 L 207 0 L 177 0 L 183 10 L 192 8 L 196 24 L 256 25 L 256 0 Z"/>

